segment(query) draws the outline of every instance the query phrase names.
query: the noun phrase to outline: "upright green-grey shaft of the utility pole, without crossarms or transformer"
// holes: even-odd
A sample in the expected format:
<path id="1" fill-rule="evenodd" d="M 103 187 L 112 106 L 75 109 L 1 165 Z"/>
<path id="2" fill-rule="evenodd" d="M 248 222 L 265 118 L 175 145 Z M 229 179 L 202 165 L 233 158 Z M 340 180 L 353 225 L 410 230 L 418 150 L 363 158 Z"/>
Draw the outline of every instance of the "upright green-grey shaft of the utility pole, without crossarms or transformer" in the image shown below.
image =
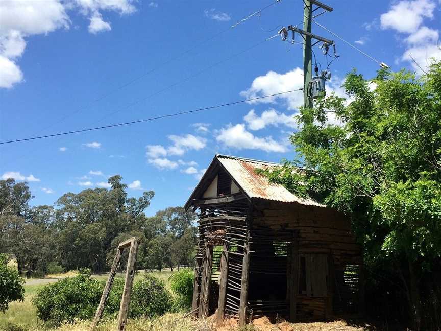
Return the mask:
<path id="1" fill-rule="evenodd" d="M 312 4 L 304 0 L 303 31 L 312 33 Z M 312 37 L 305 35 L 303 44 L 303 107 L 313 108 L 314 102 L 308 96 L 308 86 L 312 81 Z"/>

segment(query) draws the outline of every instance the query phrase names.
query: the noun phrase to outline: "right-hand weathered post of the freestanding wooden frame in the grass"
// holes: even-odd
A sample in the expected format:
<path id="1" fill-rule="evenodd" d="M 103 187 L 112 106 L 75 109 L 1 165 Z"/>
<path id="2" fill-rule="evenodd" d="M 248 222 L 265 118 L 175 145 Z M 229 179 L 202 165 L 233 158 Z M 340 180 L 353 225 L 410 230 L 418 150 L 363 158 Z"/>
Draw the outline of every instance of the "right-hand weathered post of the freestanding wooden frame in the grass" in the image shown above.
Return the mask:
<path id="1" fill-rule="evenodd" d="M 130 242 L 130 253 L 127 261 L 126 280 L 124 282 L 124 292 L 122 292 L 121 305 L 119 306 L 118 328 L 117 331 L 124 331 L 129 314 L 130 295 L 132 292 L 133 279 L 135 278 L 135 262 L 138 252 L 139 237 L 134 237 Z M 124 244 L 124 243 L 121 243 Z M 121 244 L 119 247 L 121 247 Z"/>

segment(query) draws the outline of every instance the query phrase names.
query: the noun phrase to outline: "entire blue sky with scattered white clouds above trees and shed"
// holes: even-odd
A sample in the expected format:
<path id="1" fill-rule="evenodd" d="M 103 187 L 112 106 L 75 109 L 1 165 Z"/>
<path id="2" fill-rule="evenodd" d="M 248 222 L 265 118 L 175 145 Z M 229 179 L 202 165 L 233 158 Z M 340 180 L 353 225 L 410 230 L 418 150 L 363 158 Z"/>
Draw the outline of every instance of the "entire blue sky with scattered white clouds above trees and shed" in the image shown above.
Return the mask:
<path id="1" fill-rule="evenodd" d="M 302 1 L 281 0 L 228 29 L 271 3 L 2 0 L 0 139 L 127 122 L 301 87 L 301 45 L 279 37 L 264 40 L 280 26 L 302 20 Z M 393 69 L 419 70 L 410 56 L 423 68 L 428 58 L 441 58 L 438 0 L 326 3 L 334 11 L 318 22 Z M 368 78 L 375 75 L 376 62 L 316 25 L 313 32 L 334 39 L 340 55 L 330 67 L 328 92 L 342 95 L 339 86 L 353 67 Z M 321 50 L 314 51 L 326 67 Z M 296 129 L 292 116 L 301 102 L 302 93 L 295 92 L 0 145 L 0 177 L 27 180 L 32 203 L 51 205 L 66 192 L 105 186 L 108 176 L 120 174 L 130 196 L 155 191 L 146 210 L 152 215 L 183 205 L 215 153 L 295 158 L 288 136 Z"/>

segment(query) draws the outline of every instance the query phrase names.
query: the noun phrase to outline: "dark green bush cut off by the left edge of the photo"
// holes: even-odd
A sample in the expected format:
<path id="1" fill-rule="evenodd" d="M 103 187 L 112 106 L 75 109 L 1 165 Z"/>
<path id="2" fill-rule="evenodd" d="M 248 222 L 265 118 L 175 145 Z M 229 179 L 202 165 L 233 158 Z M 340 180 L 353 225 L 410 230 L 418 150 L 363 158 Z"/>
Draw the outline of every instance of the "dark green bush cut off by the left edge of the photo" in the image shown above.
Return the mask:
<path id="1" fill-rule="evenodd" d="M 24 299 L 24 280 L 14 267 L 6 265 L 6 256 L 0 254 L 0 312 L 5 312 L 9 303 Z"/>

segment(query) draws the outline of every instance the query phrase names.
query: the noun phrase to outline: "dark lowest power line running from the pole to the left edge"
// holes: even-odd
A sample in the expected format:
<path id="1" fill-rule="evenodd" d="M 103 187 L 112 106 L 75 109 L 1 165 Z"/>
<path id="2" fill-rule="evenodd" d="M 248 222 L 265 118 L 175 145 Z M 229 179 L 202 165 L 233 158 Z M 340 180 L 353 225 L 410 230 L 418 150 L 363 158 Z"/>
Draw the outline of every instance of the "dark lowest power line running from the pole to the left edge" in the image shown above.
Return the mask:
<path id="1" fill-rule="evenodd" d="M 114 128 L 114 127 L 118 127 L 118 126 L 135 124 L 135 123 L 141 123 L 141 122 L 148 122 L 148 121 L 166 119 L 168 117 L 174 117 L 174 116 L 179 116 L 179 115 L 184 115 L 184 114 L 190 114 L 190 113 L 200 112 L 200 111 L 204 111 L 204 110 L 211 110 L 211 109 L 225 107 L 225 106 L 232 106 L 232 105 L 237 105 L 237 104 L 244 103 L 244 102 L 259 100 L 259 99 L 277 97 L 277 96 L 281 96 L 282 94 L 292 93 L 292 92 L 300 91 L 302 89 L 303 88 L 299 88 L 299 89 L 295 89 L 295 90 L 290 90 L 290 91 L 285 91 L 285 92 L 280 92 L 280 93 L 269 94 L 269 95 L 262 96 L 262 97 L 256 97 L 256 98 L 244 99 L 244 100 L 235 101 L 235 102 L 229 102 L 229 103 L 220 104 L 220 105 L 216 105 L 216 106 L 210 106 L 210 107 L 205 107 L 205 108 L 198 108 L 198 109 L 193 109 L 193 110 L 188 110 L 188 111 L 182 111 L 182 112 L 178 112 L 178 113 L 174 113 L 174 114 L 167 114 L 167 115 L 161 115 L 161 116 L 156 116 L 156 117 L 150 117 L 148 119 L 143 119 L 143 120 L 130 121 L 130 122 L 124 122 L 124 123 L 117 123 L 117 124 L 110 124 L 110 125 L 105 125 L 105 126 L 101 126 L 101 127 L 88 128 L 88 129 L 75 130 L 75 131 L 68 131 L 68 132 L 61 132 L 61 133 L 54 133 L 54 134 L 48 134 L 48 135 L 43 135 L 43 136 L 31 137 L 31 138 L 23 138 L 23 139 L 15 139 L 15 140 L 2 141 L 2 142 L 0 142 L 0 145 L 11 144 L 11 143 L 18 143 L 19 141 L 27 141 L 27 140 L 35 140 L 35 139 L 56 137 L 56 136 L 61 136 L 61 135 L 73 134 L 73 133 L 80 133 L 80 132 L 94 131 L 94 130 L 101 130 L 101 129 L 108 129 L 108 128 Z"/>

